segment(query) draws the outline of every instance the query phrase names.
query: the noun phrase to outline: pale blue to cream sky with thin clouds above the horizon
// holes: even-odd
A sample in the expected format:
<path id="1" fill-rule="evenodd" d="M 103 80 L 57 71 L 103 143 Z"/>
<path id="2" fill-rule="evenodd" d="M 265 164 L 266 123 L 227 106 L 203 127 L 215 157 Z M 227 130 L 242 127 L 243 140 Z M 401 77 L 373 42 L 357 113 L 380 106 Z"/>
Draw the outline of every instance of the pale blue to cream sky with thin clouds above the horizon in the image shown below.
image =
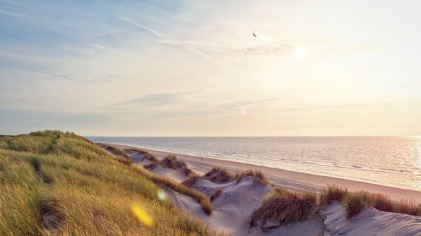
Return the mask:
<path id="1" fill-rule="evenodd" d="M 421 135 L 420 12 L 0 0 L 0 134 Z"/>

